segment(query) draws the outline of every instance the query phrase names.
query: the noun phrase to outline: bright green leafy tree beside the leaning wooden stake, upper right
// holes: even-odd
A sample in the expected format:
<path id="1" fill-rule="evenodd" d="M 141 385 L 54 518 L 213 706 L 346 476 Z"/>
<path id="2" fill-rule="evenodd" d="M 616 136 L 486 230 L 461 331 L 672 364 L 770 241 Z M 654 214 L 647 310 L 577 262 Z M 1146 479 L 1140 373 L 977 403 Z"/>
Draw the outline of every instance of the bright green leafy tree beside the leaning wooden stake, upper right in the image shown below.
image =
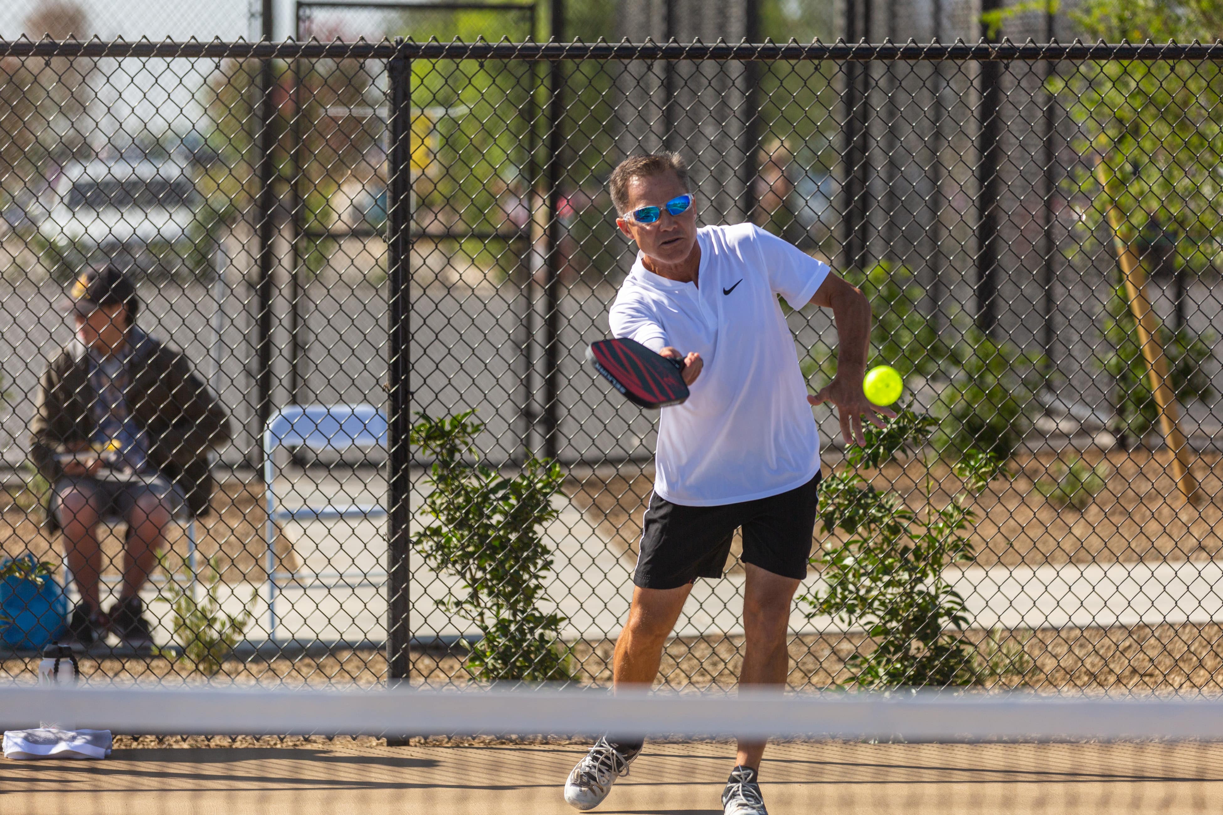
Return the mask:
<path id="1" fill-rule="evenodd" d="M 1108 42 L 1194 39 L 1223 33 L 1223 7 L 1216 0 L 1084 0 L 1071 12 L 1090 34 Z M 1151 239 L 1166 243 L 1163 264 L 1177 274 L 1202 271 L 1216 263 L 1223 237 L 1223 93 L 1221 71 L 1211 61 L 1082 62 L 1065 76 L 1051 77 L 1079 125 L 1074 147 L 1084 156 L 1068 189 L 1080 198 L 1080 226 L 1090 239 L 1108 228 L 1113 242 L 1144 257 Z M 1120 222 L 1106 225 L 1106 214 Z M 1120 253 L 1120 249 L 1118 249 Z M 1148 367 L 1135 340 L 1130 297 L 1118 285 L 1104 314 L 1110 348 L 1099 367 L 1114 378 L 1114 429 L 1141 437 L 1158 417 Z M 1214 337 L 1188 326 L 1161 327 L 1157 345 L 1167 356 L 1178 400 L 1210 398 L 1201 370 Z"/>

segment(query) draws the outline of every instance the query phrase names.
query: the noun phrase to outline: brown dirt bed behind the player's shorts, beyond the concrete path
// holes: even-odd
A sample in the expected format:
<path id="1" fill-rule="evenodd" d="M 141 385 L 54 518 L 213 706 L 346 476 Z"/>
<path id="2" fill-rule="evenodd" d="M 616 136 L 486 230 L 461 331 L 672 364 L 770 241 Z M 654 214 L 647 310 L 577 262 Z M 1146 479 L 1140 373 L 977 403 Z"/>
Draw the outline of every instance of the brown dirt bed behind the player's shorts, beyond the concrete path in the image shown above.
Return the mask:
<path id="1" fill-rule="evenodd" d="M 1051 478 L 1057 453 L 1024 455 L 1013 461 L 1014 478 L 994 481 L 971 502 L 977 513 L 976 565 L 1211 560 L 1223 551 L 1223 456 L 1211 452 L 1196 457 L 1192 472 L 1201 485 L 1196 505 L 1180 497 L 1167 453 L 1095 451 L 1085 452 L 1084 458 L 1092 467 L 1104 462 L 1108 477 L 1104 489 L 1082 511 L 1059 510 L 1036 489 L 1037 481 Z M 597 469 L 570 479 L 565 490 L 598 534 L 630 565 L 636 561 L 641 519 L 653 486 L 652 468 L 634 474 L 632 467 Z M 828 472 L 832 468 L 826 463 Z M 934 464 L 929 475 L 937 506 L 960 489 L 960 479 L 943 463 Z M 926 466 L 911 462 L 904 468 L 892 464 L 876 472 L 873 483 L 878 489 L 898 490 L 910 507 L 918 510 L 922 496 L 917 486 L 925 478 Z M 737 555 L 737 533 L 735 538 L 733 552 Z M 816 545 L 823 539 L 823 529 L 817 525 Z M 730 569 L 739 568 L 733 561 Z"/>

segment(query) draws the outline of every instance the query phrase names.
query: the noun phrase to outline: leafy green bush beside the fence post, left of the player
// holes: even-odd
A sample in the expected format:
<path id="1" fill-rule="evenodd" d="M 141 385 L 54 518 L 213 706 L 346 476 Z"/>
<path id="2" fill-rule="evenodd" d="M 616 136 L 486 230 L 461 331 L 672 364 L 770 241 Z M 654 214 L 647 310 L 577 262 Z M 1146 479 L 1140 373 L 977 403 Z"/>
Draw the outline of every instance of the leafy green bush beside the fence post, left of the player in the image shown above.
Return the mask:
<path id="1" fill-rule="evenodd" d="M 448 607 L 481 630 L 467 670 L 481 679 L 547 682 L 572 678 L 560 626 L 545 613 L 544 578 L 553 566 L 543 525 L 565 477 L 555 462 L 530 458 L 512 478 L 466 458 L 484 425 L 475 412 L 432 419 L 423 413 L 411 440 L 433 459 L 424 513 L 434 521 L 416 543 L 430 568 L 459 578 L 466 591 Z"/>

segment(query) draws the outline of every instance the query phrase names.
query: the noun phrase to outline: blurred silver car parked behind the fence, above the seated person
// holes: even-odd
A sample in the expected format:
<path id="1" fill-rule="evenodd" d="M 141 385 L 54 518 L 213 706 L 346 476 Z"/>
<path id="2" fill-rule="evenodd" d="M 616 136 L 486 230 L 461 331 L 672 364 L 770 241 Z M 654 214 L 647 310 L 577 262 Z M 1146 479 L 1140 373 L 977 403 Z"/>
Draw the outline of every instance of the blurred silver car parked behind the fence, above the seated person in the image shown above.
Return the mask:
<path id="1" fill-rule="evenodd" d="M 91 161 L 64 169 L 38 231 L 60 279 L 113 261 L 154 279 L 183 280 L 212 269 L 216 222 L 188 164 Z"/>

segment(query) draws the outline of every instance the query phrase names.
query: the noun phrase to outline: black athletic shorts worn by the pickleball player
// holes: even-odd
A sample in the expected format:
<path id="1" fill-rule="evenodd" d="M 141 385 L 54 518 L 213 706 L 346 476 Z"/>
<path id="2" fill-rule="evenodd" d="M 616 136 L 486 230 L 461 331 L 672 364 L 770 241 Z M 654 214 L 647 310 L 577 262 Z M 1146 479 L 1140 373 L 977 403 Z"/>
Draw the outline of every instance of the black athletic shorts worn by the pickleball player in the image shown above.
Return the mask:
<path id="1" fill-rule="evenodd" d="M 646 510 L 632 574 L 643 589 L 678 589 L 698 577 L 722 577 L 735 529 L 744 529 L 744 562 L 801 580 L 816 530 L 819 473 L 767 499 L 689 507 L 654 494 Z"/>

